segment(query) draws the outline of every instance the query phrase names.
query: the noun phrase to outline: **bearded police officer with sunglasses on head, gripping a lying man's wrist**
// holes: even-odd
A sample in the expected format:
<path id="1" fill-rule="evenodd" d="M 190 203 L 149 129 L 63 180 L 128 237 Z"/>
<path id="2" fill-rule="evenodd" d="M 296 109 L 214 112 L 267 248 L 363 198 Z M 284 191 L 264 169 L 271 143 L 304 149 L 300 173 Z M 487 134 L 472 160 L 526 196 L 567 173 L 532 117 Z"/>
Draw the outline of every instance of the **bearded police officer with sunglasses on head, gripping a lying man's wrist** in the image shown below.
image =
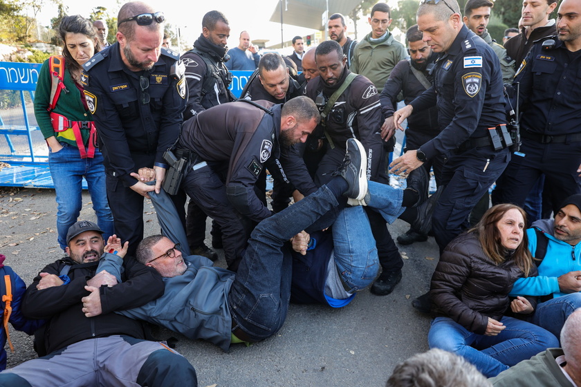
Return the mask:
<path id="1" fill-rule="evenodd" d="M 187 88 L 178 53 L 161 48 L 163 12 L 138 1 L 119 10 L 117 42 L 84 65 L 86 102 L 95 118 L 116 234 L 130 254 L 143 238 L 143 197 L 159 192 L 163 153 L 178 138 Z M 138 180 L 156 171 L 156 185 Z"/>

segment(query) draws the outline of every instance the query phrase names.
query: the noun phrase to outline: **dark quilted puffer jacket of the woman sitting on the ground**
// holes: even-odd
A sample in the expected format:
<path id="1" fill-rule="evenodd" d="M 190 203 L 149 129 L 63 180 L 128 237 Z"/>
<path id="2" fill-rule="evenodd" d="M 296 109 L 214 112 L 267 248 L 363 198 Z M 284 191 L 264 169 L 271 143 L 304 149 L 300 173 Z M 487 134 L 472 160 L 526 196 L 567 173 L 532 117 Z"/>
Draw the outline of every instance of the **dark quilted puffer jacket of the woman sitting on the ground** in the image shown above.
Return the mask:
<path id="1" fill-rule="evenodd" d="M 533 265 L 529 276 L 536 275 Z M 523 276 L 513 259 L 495 265 L 484 254 L 476 234 L 461 234 L 445 248 L 432 276 L 430 296 L 436 315 L 484 334 L 488 317 L 500 320 L 509 309 L 508 293 Z M 536 306 L 535 299 L 528 301 Z"/>

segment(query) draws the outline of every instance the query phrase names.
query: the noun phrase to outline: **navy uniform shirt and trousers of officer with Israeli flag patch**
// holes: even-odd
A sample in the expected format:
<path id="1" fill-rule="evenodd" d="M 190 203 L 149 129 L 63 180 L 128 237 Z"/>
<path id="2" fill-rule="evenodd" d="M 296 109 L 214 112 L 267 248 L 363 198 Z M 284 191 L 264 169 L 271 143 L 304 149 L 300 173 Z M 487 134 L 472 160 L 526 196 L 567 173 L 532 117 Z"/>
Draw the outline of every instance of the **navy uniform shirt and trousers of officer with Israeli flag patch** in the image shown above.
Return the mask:
<path id="1" fill-rule="evenodd" d="M 432 160 L 443 154 L 446 186 L 434 209 L 432 231 L 440 252 L 468 227 L 468 216 L 510 161 L 495 150 L 488 128 L 506 124 L 500 63 L 495 52 L 462 26 L 434 68 L 434 85 L 410 104 L 421 111 L 436 104 L 439 135 L 418 151 Z"/>

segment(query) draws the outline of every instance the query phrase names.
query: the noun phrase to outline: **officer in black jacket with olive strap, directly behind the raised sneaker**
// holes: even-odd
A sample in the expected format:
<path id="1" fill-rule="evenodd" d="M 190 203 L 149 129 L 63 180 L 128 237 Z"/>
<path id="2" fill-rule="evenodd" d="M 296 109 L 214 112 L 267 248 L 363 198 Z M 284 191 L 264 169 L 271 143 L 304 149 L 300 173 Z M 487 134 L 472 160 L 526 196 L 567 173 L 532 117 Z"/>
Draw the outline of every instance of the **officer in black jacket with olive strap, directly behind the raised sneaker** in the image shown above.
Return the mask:
<path id="1" fill-rule="evenodd" d="M 387 176 L 382 173 L 382 166 L 385 165 L 385 153 L 380 138 L 383 117 L 377 88 L 366 77 L 349 71 L 346 66 L 347 57 L 344 57 L 340 44 L 334 40 L 324 41 L 317 46 L 315 62 L 320 76 L 308 82 L 306 96 L 315 101 L 322 112 L 326 104 L 330 104 L 324 123 L 317 127 L 315 133 L 324 133 L 327 139 L 326 153 L 317 169 L 315 184 L 323 185 L 331 178 L 331 172 L 342 162 L 344 144 L 348 138 L 357 138 L 365 148 L 367 177 L 374 181 L 387 182 Z M 348 84 L 345 85 L 347 88 L 344 88 L 334 102 L 329 102 L 345 82 Z M 367 211 L 367 215 L 383 268 L 382 274 L 371 287 L 371 292 L 378 295 L 389 294 L 401 279 L 403 261 L 387 231 L 385 220 L 374 211 Z"/>

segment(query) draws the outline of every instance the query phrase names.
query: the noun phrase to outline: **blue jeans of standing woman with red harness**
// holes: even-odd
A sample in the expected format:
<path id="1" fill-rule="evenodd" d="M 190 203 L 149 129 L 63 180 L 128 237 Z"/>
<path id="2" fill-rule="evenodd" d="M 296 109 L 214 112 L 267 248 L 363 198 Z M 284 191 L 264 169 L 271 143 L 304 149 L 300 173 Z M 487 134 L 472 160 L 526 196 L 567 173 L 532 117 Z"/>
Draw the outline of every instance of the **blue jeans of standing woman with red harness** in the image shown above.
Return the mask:
<path id="1" fill-rule="evenodd" d="M 75 224 L 82 208 L 83 176 L 89 187 L 97 224 L 107 240 L 113 234 L 113 215 L 107 203 L 103 155 L 95 149 L 94 158 L 82 159 L 77 147 L 61 142 L 63 148 L 57 153 L 49 151 L 48 166 L 57 194 L 57 231 L 59 245 L 66 247 L 66 233 Z"/>

